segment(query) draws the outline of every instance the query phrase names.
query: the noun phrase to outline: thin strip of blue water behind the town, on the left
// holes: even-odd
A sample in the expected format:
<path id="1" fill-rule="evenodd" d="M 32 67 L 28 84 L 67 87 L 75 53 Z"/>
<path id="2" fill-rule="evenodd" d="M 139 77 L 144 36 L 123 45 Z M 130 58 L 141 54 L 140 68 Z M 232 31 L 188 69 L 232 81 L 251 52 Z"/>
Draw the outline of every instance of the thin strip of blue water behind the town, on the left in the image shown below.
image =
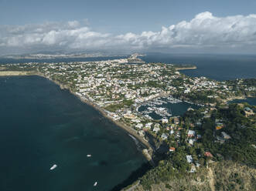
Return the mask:
<path id="1" fill-rule="evenodd" d="M 95 58 L 73 58 L 73 59 L 0 59 L 0 64 L 15 64 L 26 62 L 39 62 L 39 63 L 51 63 L 51 62 L 93 62 L 109 59 L 125 59 L 127 56 L 107 56 L 107 57 L 95 57 Z"/>

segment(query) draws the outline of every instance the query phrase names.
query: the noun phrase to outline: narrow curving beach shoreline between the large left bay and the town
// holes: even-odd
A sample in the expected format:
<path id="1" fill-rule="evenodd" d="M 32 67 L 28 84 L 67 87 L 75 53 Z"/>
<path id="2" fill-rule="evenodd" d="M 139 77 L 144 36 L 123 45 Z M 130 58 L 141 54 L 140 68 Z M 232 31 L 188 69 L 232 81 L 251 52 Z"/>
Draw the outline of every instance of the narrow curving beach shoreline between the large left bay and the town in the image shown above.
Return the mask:
<path id="1" fill-rule="evenodd" d="M 144 149 L 142 149 L 143 156 L 145 156 L 145 159 L 147 159 L 148 162 L 150 162 L 152 165 L 154 165 L 154 162 L 152 161 L 152 155 L 153 155 L 154 149 L 152 148 L 152 146 L 150 146 L 150 144 L 144 138 L 142 138 L 142 136 L 138 135 L 138 133 L 136 132 L 135 129 L 132 129 L 131 127 L 127 126 L 123 122 L 115 121 L 110 116 L 108 116 L 108 113 L 105 112 L 104 109 L 102 109 L 101 107 L 97 106 L 94 102 L 90 102 L 87 99 L 80 98 L 80 96 L 78 96 L 75 92 L 73 92 L 68 85 L 63 85 L 61 82 L 58 82 L 58 81 L 53 80 L 53 79 L 50 79 L 49 77 L 47 77 L 46 75 L 43 75 L 43 73 L 40 73 L 40 72 L 0 71 L 0 76 L 26 76 L 26 75 L 27 76 L 29 76 L 29 75 L 37 75 L 37 76 L 43 77 L 45 79 L 48 79 L 49 81 L 55 83 L 56 85 L 59 85 L 60 89 L 67 89 L 72 95 L 77 97 L 77 99 L 80 99 L 81 102 L 84 102 L 88 106 L 91 106 L 94 109 L 96 109 L 98 112 L 101 113 L 102 116 L 104 116 L 104 118 L 110 120 L 116 126 L 118 126 L 119 128 L 125 130 L 125 132 L 128 132 L 128 135 L 130 134 L 131 136 L 134 136 L 135 139 L 138 139 L 138 141 L 141 142 L 142 145 L 145 146 L 146 149 L 148 149 L 148 152 L 146 152 L 146 153 L 145 153 L 145 151 L 143 151 Z"/>

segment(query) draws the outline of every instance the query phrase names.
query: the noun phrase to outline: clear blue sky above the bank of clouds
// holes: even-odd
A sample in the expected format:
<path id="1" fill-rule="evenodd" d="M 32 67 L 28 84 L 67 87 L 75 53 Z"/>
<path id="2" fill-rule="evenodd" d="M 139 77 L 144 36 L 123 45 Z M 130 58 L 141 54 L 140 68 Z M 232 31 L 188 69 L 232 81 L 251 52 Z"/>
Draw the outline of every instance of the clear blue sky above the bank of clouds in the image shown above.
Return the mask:
<path id="1" fill-rule="evenodd" d="M 87 19 L 101 32 L 157 31 L 200 12 L 249 15 L 254 0 L 0 0 L 0 25 L 67 22 Z"/>

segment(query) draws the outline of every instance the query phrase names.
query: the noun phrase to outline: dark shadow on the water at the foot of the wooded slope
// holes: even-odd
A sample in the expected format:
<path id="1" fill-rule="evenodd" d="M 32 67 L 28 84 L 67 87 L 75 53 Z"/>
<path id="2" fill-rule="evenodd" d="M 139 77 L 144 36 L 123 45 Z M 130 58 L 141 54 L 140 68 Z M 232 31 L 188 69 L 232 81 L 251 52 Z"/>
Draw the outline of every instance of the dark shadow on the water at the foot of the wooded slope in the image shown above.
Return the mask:
<path id="1" fill-rule="evenodd" d="M 152 169 L 152 166 L 150 163 L 144 163 L 142 164 L 141 167 L 139 167 L 138 169 L 136 169 L 135 171 L 133 171 L 130 176 L 128 176 L 127 179 L 125 179 L 125 181 L 123 181 L 122 183 L 118 184 L 117 186 L 114 186 L 113 189 L 110 189 L 109 191 L 120 191 L 121 189 L 125 188 L 126 186 L 131 185 L 132 183 L 134 183 L 136 180 L 138 180 L 138 178 L 142 177 L 143 175 L 145 175 L 145 173 L 148 172 L 148 170 Z"/>

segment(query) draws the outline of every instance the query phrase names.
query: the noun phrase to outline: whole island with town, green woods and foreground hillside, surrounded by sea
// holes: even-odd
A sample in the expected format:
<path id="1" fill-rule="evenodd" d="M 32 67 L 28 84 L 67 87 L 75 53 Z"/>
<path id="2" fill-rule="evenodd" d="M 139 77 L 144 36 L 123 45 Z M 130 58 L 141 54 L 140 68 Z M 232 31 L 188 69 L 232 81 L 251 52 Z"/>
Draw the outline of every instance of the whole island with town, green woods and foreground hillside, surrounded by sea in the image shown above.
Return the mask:
<path id="1" fill-rule="evenodd" d="M 256 107 L 230 100 L 254 97 L 256 79 L 189 77 L 179 70 L 196 67 L 145 63 L 137 56 L 5 64 L 0 75 L 52 80 L 141 141 L 152 168 L 124 190 L 253 190 Z M 179 102 L 196 107 L 174 116 L 166 106 Z"/>

